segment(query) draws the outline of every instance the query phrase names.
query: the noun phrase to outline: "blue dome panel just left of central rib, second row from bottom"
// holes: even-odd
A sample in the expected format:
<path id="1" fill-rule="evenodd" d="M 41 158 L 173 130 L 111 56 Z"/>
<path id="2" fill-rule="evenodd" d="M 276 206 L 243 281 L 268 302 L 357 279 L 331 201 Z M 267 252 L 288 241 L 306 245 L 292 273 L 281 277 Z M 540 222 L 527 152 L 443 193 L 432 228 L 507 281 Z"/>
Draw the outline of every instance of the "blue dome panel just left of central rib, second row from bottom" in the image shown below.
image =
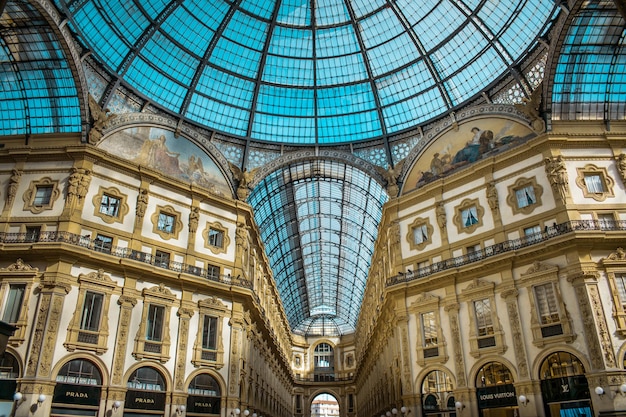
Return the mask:
<path id="1" fill-rule="evenodd" d="M 313 90 L 280 88 L 262 85 L 259 89 L 256 110 L 284 116 L 315 116 Z"/>

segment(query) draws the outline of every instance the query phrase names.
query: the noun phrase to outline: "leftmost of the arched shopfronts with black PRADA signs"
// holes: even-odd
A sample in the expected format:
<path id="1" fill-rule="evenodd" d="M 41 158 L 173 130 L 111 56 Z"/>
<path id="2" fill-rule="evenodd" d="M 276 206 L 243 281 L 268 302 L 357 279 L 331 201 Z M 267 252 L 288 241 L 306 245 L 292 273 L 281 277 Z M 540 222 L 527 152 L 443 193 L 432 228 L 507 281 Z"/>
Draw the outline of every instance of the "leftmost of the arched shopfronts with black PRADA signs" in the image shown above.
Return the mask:
<path id="1" fill-rule="evenodd" d="M 102 393 L 102 374 L 87 359 L 67 362 L 56 377 L 51 417 L 96 416 Z"/>

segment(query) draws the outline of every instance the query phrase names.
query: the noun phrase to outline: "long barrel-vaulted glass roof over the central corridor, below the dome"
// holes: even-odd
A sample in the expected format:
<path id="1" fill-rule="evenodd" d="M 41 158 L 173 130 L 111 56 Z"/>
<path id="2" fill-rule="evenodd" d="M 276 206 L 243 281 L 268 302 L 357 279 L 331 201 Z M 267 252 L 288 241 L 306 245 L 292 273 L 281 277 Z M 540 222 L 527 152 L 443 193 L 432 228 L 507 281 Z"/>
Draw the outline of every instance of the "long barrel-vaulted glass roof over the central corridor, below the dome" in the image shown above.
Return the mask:
<path id="1" fill-rule="evenodd" d="M 248 202 L 294 333 L 353 333 L 382 206 L 383 187 L 333 161 L 274 171 Z"/>

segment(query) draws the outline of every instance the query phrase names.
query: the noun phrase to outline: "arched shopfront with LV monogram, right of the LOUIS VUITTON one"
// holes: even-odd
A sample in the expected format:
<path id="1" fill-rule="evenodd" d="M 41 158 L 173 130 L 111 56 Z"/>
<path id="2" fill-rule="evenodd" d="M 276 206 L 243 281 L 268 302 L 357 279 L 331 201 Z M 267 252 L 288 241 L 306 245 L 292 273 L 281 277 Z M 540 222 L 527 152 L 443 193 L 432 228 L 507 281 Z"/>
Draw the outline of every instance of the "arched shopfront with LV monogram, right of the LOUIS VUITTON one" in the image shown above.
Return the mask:
<path id="1" fill-rule="evenodd" d="M 547 417 L 592 417 L 589 383 L 582 362 L 569 352 L 555 352 L 541 363 L 541 396 Z"/>

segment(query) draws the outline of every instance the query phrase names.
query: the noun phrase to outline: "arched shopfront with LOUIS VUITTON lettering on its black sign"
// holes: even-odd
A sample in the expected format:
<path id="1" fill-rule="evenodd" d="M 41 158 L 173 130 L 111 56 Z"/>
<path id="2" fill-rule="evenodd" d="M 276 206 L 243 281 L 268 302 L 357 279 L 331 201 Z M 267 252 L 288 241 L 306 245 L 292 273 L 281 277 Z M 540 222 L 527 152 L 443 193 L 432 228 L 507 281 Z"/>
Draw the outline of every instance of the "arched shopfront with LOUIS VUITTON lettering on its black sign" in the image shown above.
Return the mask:
<path id="1" fill-rule="evenodd" d="M 480 417 L 516 417 L 517 395 L 511 371 L 500 362 L 486 363 L 476 374 Z"/>

